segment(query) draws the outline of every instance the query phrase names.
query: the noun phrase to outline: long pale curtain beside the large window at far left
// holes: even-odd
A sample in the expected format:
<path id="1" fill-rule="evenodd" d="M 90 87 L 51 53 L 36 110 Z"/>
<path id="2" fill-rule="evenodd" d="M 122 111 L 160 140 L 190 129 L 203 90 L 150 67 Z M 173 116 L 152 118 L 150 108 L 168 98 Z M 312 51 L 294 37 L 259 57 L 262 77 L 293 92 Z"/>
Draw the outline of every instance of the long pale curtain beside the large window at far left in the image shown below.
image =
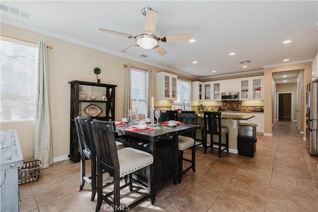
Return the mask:
<path id="1" fill-rule="evenodd" d="M 47 72 L 47 47 L 45 43 L 39 42 L 36 70 L 33 155 L 34 159 L 41 160 L 42 168 L 47 168 L 53 163 Z"/>

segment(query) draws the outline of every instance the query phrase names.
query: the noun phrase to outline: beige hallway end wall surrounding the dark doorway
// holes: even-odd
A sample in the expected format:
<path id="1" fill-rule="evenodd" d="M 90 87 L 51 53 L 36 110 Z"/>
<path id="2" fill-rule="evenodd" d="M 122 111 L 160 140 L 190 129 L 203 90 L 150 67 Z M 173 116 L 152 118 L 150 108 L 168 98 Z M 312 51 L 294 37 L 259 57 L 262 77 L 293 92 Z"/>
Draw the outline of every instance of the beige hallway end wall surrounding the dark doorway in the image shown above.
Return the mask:
<path id="1" fill-rule="evenodd" d="M 293 93 L 293 120 L 297 119 L 297 113 L 295 110 L 297 109 L 297 83 L 287 83 L 287 84 L 276 84 L 276 117 L 278 119 L 278 108 L 277 108 L 277 101 L 278 101 L 278 93 Z"/>

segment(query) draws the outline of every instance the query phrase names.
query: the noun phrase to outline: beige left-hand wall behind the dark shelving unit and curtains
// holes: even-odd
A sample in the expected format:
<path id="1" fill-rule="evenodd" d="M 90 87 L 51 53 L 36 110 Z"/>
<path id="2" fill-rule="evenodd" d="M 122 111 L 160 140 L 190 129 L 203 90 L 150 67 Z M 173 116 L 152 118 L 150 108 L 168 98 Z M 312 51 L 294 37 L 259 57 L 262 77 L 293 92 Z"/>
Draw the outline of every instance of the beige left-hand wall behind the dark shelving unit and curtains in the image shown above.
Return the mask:
<path id="1" fill-rule="evenodd" d="M 119 120 L 123 116 L 125 84 L 123 65 L 127 63 L 141 69 L 151 69 L 151 96 L 155 96 L 155 106 L 159 106 L 159 104 L 171 105 L 170 101 L 156 101 L 156 72 L 166 70 L 4 23 L 1 23 L 1 35 L 34 43 L 42 41 L 53 46 L 52 50 L 48 50 L 53 157 L 67 155 L 70 152 L 70 85 L 68 82 L 71 80 L 95 82 L 96 75 L 93 73 L 95 67 L 101 69 L 98 78 L 101 79 L 102 83 L 117 85 L 115 119 Z M 192 79 L 188 76 L 185 77 Z M 193 78 L 193 80 L 197 79 Z M 16 129 L 23 156 L 25 159 L 32 159 L 33 122 L 1 123 L 0 127 L 1 130 Z"/>

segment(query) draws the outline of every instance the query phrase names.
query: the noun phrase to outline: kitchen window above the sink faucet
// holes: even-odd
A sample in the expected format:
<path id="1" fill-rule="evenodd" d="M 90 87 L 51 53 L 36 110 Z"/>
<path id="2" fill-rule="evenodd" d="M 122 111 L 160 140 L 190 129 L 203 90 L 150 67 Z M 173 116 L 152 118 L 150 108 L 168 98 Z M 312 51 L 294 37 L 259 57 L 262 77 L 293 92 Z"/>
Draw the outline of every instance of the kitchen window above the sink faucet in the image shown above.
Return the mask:
<path id="1" fill-rule="evenodd" d="M 177 80 L 177 100 L 174 100 L 175 109 L 183 108 L 183 103 L 185 105 L 185 110 L 191 110 L 191 82 Z M 188 100 L 188 101 L 187 101 Z"/>

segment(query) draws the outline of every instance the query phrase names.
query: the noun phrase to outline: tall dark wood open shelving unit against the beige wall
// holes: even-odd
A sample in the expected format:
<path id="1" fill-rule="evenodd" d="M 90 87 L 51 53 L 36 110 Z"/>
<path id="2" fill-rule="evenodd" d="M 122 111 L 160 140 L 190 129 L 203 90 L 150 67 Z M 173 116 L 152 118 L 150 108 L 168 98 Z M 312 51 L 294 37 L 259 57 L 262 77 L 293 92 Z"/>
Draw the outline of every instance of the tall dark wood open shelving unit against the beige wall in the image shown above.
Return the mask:
<path id="1" fill-rule="evenodd" d="M 75 118 L 79 116 L 79 105 L 81 103 L 103 103 L 105 104 L 105 116 L 92 117 L 94 119 L 103 120 L 103 121 L 115 121 L 115 88 L 117 85 L 112 84 L 103 84 L 95 82 L 85 82 L 73 80 L 69 81 L 71 84 L 71 113 L 70 113 L 70 154 L 69 158 L 77 163 L 80 160 L 79 152 L 79 140 L 75 128 Z M 105 87 L 105 95 L 107 101 L 102 100 L 79 100 L 79 86 L 94 86 L 94 87 Z"/>

